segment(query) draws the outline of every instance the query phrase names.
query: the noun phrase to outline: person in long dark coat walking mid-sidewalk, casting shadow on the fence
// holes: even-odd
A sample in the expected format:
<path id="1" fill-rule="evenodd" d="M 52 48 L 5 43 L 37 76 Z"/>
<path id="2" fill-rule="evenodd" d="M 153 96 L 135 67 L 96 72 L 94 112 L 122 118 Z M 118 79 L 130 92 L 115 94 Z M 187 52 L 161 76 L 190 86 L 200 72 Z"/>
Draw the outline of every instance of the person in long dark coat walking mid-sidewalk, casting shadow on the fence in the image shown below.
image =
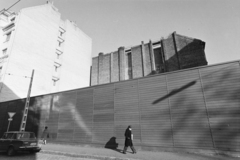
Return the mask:
<path id="1" fill-rule="evenodd" d="M 128 146 L 132 149 L 133 154 L 137 153 L 134 146 L 133 146 L 133 134 L 132 134 L 132 127 L 128 126 L 128 128 L 125 131 L 125 144 L 123 149 L 123 154 L 126 154 Z"/>

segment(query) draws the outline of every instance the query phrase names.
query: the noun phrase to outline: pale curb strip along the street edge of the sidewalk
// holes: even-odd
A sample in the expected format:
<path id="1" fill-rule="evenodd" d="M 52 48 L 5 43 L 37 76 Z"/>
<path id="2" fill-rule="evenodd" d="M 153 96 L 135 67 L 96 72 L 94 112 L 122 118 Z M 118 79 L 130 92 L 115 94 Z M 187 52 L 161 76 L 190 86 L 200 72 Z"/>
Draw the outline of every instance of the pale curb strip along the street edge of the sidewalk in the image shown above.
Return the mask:
<path id="1" fill-rule="evenodd" d="M 47 150 L 41 150 L 40 153 L 64 155 L 64 156 L 69 156 L 69 157 L 98 159 L 98 160 L 139 160 L 139 159 L 132 159 L 132 158 L 118 158 L 118 157 L 107 157 L 107 156 L 88 155 L 88 154 L 75 154 L 75 153 L 67 153 L 67 152 L 59 152 L 59 151 L 47 151 Z"/>

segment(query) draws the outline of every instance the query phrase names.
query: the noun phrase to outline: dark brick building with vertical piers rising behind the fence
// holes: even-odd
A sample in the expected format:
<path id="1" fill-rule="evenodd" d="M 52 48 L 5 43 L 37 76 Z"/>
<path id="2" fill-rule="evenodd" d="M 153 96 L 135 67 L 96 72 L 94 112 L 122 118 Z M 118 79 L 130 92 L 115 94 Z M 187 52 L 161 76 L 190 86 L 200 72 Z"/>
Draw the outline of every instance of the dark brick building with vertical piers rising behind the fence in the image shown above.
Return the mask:
<path id="1" fill-rule="evenodd" d="M 207 65 L 205 42 L 173 32 L 92 58 L 91 86 Z"/>

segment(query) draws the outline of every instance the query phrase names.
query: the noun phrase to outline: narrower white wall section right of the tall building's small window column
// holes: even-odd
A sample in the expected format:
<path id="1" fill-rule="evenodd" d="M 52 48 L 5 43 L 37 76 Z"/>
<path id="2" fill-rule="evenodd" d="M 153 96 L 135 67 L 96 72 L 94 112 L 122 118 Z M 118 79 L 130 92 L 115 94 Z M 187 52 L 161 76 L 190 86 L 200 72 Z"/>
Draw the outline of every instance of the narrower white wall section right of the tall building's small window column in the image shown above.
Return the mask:
<path id="1" fill-rule="evenodd" d="M 92 40 L 69 20 L 65 21 L 59 91 L 89 86 Z"/>

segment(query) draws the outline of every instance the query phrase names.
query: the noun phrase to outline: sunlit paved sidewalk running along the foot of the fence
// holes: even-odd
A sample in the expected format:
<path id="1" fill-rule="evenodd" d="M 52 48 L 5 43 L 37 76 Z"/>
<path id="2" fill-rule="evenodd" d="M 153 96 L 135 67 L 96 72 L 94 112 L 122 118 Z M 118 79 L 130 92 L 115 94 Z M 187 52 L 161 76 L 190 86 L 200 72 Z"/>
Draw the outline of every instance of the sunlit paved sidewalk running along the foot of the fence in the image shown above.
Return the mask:
<path id="1" fill-rule="evenodd" d="M 128 148 L 127 154 L 122 154 L 121 150 L 51 143 L 42 145 L 41 152 L 100 160 L 239 160 L 239 158 L 225 157 L 222 155 L 214 155 L 210 153 L 195 154 L 183 152 L 150 152 L 138 150 L 137 154 L 132 154 L 130 148 Z"/>

